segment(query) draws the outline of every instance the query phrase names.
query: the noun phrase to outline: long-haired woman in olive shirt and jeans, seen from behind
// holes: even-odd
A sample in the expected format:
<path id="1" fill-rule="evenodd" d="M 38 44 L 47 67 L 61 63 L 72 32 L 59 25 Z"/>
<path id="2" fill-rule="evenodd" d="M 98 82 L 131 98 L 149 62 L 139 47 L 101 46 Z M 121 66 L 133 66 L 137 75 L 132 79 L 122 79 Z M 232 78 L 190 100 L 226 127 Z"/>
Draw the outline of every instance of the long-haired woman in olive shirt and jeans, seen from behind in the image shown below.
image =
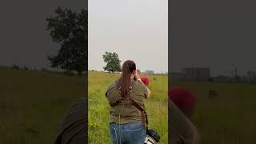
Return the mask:
<path id="1" fill-rule="evenodd" d="M 136 80 L 134 80 L 136 79 Z M 146 138 L 141 111 L 126 98 L 143 106 L 145 98 L 150 97 L 150 90 L 141 82 L 133 61 L 122 65 L 122 75 L 111 82 L 106 90 L 110 103 L 110 137 L 114 144 L 142 144 Z"/>

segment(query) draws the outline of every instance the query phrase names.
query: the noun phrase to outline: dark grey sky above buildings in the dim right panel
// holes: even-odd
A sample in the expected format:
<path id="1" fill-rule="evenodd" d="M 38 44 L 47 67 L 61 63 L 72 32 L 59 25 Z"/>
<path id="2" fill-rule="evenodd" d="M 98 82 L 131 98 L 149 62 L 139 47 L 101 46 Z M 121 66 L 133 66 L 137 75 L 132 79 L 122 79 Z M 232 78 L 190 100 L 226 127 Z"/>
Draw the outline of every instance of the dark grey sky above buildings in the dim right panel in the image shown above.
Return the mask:
<path id="1" fill-rule="evenodd" d="M 254 1 L 172 1 L 171 69 L 207 66 L 212 75 L 256 70 Z"/>

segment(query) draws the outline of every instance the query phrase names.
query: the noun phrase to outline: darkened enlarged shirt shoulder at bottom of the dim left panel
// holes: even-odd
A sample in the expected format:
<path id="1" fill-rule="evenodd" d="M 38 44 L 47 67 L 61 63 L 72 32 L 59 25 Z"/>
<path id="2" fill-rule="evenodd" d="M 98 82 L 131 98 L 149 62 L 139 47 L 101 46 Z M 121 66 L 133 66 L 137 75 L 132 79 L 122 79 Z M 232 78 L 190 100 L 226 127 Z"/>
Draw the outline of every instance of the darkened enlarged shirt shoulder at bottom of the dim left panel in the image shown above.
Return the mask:
<path id="1" fill-rule="evenodd" d="M 75 102 L 61 124 L 60 134 L 55 144 L 87 143 L 87 102 L 81 99 Z"/>

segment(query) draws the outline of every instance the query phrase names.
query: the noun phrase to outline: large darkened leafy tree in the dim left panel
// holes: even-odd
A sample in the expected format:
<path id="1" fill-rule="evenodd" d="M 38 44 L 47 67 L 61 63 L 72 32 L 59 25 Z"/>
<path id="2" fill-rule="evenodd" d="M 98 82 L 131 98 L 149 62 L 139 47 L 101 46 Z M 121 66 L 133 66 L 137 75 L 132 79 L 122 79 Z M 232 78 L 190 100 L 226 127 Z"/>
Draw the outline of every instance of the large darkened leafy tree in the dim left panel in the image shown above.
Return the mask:
<path id="1" fill-rule="evenodd" d="M 78 74 L 87 70 L 87 18 L 87 10 L 75 12 L 60 7 L 54 15 L 46 18 L 46 30 L 50 31 L 53 41 L 61 46 L 58 55 L 47 56 L 52 67 L 76 70 Z"/>

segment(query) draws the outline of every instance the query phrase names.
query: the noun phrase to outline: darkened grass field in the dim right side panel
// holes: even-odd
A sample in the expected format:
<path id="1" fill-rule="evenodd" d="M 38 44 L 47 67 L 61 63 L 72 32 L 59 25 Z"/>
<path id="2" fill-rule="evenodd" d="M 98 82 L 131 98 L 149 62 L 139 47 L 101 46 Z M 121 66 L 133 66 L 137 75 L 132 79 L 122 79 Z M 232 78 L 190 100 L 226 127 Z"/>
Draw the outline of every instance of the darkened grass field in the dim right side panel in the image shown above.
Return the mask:
<path id="1" fill-rule="evenodd" d="M 194 90 L 198 105 L 194 124 L 202 144 L 256 143 L 256 85 L 245 83 L 180 82 Z M 218 96 L 208 97 L 208 90 Z"/>

